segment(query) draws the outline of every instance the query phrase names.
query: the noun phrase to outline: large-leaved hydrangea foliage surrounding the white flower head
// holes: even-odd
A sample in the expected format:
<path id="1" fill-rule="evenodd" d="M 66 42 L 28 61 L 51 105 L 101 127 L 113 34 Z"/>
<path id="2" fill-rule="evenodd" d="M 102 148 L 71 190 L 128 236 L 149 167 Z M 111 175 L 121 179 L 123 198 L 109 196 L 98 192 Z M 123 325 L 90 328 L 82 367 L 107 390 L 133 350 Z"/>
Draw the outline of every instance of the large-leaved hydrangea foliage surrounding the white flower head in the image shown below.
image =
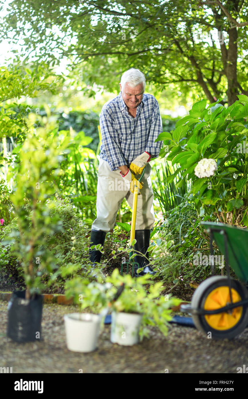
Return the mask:
<path id="1" fill-rule="evenodd" d="M 168 146 L 166 160 L 180 166 L 166 181 L 180 173 L 176 187 L 191 182 L 188 200 L 195 203 L 198 216 L 244 226 L 248 225 L 248 97 L 238 97 L 228 108 L 213 103 L 205 109 L 206 100 L 195 103 L 189 115 L 170 133 L 161 133 L 158 140 Z M 162 148 L 160 156 L 165 155 Z M 195 167 L 203 158 L 217 160 L 217 171 L 199 178 Z"/>

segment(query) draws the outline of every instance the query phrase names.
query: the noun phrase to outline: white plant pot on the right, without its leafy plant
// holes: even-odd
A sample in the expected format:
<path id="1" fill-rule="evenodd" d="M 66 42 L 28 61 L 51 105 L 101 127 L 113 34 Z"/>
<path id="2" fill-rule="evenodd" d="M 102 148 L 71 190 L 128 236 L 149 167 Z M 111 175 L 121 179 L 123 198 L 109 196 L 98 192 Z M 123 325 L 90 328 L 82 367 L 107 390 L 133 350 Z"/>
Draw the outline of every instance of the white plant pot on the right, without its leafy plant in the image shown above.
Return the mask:
<path id="1" fill-rule="evenodd" d="M 110 341 L 119 345 L 135 345 L 139 342 L 142 314 L 112 312 Z"/>

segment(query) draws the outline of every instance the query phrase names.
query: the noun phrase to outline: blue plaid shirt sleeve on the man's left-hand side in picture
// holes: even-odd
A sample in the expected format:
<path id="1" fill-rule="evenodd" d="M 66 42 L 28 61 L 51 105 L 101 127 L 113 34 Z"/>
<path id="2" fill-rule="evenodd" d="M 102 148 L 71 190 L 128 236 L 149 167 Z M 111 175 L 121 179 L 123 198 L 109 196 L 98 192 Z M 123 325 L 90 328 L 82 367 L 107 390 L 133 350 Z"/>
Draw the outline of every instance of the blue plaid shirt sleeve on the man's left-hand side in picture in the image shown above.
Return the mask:
<path id="1" fill-rule="evenodd" d="M 100 129 L 102 144 L 110 169 L 117 170 L 118 166 L 127 165 L 119 142 L 119 134 L 114 128 L 114 120 L 105 107 L 100 115 Z"/>

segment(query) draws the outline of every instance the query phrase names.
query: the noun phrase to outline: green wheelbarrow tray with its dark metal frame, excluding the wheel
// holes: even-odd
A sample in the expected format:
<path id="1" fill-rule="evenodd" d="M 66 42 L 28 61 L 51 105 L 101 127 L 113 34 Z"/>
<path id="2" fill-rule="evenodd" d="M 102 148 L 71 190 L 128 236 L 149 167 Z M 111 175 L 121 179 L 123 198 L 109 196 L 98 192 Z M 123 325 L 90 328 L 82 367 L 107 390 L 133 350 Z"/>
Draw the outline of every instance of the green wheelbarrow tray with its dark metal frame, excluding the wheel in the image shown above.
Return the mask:
<path id="1" fill-rule="evenodd" d="M 210 251 L 213 255 L 213 241 L 221 251 L 225 254 L 227 267 L 227 284 L 229 285 L 230 302 L 221 308 L 215 310 L 205 310 L 203 308 L 193 308 L 191 304 L 182 304 L 180 310 L 182 312 L 190 312 L 192 315 L 213 315 L 220 312 L 228 312 L 239 306 L 248 305 L 248 298 L 244 298 L 238 302 L 232 302 L 230 267 L 236 273 L 237 277 L 244 283 L 248 281 L 248 230 L 240 227 L 230 226 L 224 223 L 201 222 L 206 227 L 210 236 Z M 211 265 L 212 276 L 214 275 L 214 265 Z M 210 278 L 209 278 L 210 279 Z M 205 280 L 206 281 L 206 280 Z M 201 283 L 203 284 L 203 283 Z M 201 285 L 200 284 L 200 285 Z M 204 291 L 203 291 L 204 292 Z M 248 321 L 248 320 L 247 320 Z"/>

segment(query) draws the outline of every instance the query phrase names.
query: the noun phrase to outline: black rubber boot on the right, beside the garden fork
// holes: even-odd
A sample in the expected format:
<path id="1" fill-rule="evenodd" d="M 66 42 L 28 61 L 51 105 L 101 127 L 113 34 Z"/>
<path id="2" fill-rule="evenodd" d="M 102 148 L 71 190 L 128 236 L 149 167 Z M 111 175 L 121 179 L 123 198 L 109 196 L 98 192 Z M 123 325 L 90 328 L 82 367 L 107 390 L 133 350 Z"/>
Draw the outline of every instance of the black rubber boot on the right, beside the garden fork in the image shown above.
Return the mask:
<path id="1" fill-rule="evenodd" d="M 147 249 L 150 245 L 150 232 L 151 232 L 150 229 L 135 230 L 136 244 L 134 245 L 134 250 L 135 252 L 136 251 L 141 252 L 148 259 L 149 259 L 149 254 L 147 252 Z M 134 267 L 135 277 L 144 276 L 147 273 L 149 273 L 152 276 L 156 274 L 156 272 L 154 272 L 150 267 L 148 259 L 146 259 L 142 255 L 136 255 L 134 259 L 135 262 L 139 263 L 139 267 L 137 265 L 135 265 Z M 137 273 L 137 269 L 139 269 L 140 267 L 144 267 L 144 269 L 141 273 Z"/>

